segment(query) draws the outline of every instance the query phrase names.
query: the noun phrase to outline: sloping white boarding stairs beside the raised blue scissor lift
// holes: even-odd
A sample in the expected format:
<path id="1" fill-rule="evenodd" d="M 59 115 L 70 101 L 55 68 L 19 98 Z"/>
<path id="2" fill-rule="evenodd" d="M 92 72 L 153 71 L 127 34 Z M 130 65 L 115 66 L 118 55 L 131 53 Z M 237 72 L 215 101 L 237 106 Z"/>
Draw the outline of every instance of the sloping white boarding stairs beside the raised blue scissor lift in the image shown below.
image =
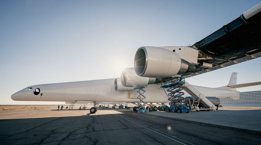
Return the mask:
<path id="1" fill-rule="evenodd" d="M 188 82 L 186 82 L 184 85 L 181 86 L 191 97 L 193 97 L 193 109 L 192 110 L 210 110 L 215 111 L 216 106 L 209 101 L 203 94 L 201 94 L 199 91 L 197 91 L 193 86 L 191 86 Z M 202 106 L 206 106 L 208 108 L 198 108 L 199 104 L 202 104 Z"/>

